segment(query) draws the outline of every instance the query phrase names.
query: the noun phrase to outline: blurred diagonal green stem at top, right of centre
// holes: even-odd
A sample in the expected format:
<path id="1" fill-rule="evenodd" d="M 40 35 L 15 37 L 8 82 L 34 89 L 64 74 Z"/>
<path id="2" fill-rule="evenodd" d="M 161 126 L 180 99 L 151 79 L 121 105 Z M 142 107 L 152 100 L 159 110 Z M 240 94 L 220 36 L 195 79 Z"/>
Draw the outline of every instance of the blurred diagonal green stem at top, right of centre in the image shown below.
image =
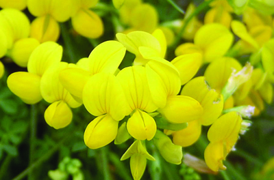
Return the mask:
<path id="1" fill-rule="evenodd" d="M 182 29 L 180 29 L 179 34 L 177 35 L 176 39 L 175 39 L 175 46 L 179 43 L 179 40 L 181 39 L 182 33 L 184 33 L 184 31 L 186 30 L 186 27 L 188 26 L 188 23 L 190 22 L 190 20 L 197 16 L 197 14 L 199 14 L 202 10 L 204 10 L 206 7 L 208 7 L 208 5 L 214 0 L 209 0 L 209 1 L 204 1 L 203 3 L 201 3 L 194 12 L 192 12 L 192 14 L 190 14 L 190 16 L 188 16 L 188 18 L 186 18 L 184 20 L 184 25 L 182 26 Z"/>

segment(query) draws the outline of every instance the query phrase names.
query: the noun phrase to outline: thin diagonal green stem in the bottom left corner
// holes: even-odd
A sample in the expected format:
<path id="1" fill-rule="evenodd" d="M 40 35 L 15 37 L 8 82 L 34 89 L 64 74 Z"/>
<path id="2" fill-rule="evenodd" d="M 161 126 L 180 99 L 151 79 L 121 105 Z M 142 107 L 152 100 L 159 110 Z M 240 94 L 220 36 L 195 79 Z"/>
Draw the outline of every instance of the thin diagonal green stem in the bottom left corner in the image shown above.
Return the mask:
<path id="1" fill-rule="evenodd" d="M 62 140 L 60 140 L 60 142 L 58 142 L 57 145 L 55 145 L 51 150 L 49 150 L 47 153 L 45 153 L 45 155 L 43 155 L 36 162 L 34 162 L 34 164 L 32 164 L 31 166 L 29 166 L 27 169 L 25 169 L 23 172 L 21 172 L 20 175 L 16 176 L 12 180 L 21 180 L 21 179 L 23 179 L 27 174 L 29 174 L 29 172 L 31 170 L 33 170 L 37 166 L 40 166 L 40 164 L 42 164 L 43 162 L 45 162 L 46 160 L 48 160 L 49 157 L 51 157 L 55 153 L 55 151 L 57 151 L 62 146 L 62 144 L 64 143 L 64 141 L 66 141 L 69 138 L 71 138 L 71 136 L 72 136 L 71 132 L 69 132 L 69 134 L 66 134 L 66 136 L 64 136 L 64 138 Z"/>

